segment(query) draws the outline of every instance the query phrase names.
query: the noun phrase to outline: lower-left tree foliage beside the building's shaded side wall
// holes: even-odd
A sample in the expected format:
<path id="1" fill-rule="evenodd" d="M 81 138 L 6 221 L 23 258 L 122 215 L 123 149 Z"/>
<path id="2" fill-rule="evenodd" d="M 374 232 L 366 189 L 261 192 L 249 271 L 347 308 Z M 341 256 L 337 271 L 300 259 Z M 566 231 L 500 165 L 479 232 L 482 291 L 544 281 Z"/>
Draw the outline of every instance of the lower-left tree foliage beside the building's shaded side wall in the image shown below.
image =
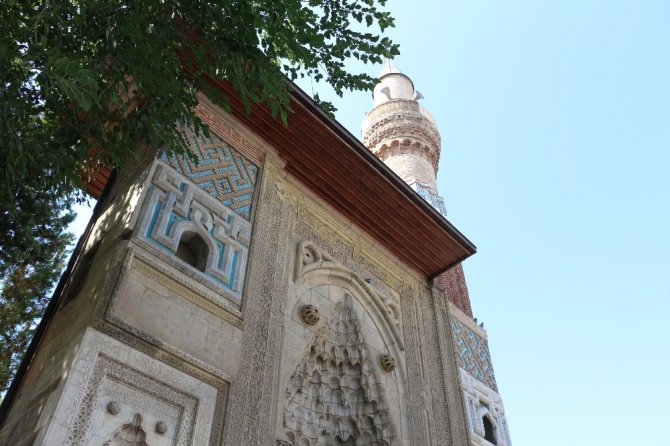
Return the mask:
<path id="1" fill-rule="evenodd" d="M 13 198 L 14 206 L 0 211 L 0 394 L 44 313 L 72 241 L 66 229 L 74 219 L 70 200 L 43 189 L 38 177 L 21 182 Z"/>

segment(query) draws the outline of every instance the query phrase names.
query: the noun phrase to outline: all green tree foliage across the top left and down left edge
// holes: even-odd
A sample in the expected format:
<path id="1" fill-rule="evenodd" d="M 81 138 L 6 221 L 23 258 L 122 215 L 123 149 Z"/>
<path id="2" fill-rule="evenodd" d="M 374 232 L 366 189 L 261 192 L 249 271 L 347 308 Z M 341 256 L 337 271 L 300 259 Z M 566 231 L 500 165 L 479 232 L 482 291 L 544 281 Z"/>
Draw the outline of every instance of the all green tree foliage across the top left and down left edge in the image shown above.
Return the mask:
<path id="1" fill-rule="evenodd" d="M 208 76 L 228 81 L 247 111 L 263 104 L 284 123 L 287 77 L 339 95 L 371 88 L 345 64 L 398 54 L 380 37 L 393 26 L 385 1 L 0 2 L 3 388 L 60 270 L 82 177 L 144 145 L 182 150 L 176 123 L 207 132 L 197 93 L 229 109 Z"/>

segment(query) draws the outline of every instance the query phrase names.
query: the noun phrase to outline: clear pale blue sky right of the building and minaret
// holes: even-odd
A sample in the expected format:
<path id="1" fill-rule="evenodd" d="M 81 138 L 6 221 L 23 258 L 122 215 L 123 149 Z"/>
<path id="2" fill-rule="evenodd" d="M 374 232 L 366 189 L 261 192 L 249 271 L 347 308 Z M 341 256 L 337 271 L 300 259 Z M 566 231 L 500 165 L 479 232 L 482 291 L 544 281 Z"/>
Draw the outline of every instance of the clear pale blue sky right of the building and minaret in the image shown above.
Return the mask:
<path id="1" fill-rule="evenodd" d="M 514 445 L 665 444 L 670 1 L 388 6 Z M 360 136 L 370 94 L 334 102 Z"/>

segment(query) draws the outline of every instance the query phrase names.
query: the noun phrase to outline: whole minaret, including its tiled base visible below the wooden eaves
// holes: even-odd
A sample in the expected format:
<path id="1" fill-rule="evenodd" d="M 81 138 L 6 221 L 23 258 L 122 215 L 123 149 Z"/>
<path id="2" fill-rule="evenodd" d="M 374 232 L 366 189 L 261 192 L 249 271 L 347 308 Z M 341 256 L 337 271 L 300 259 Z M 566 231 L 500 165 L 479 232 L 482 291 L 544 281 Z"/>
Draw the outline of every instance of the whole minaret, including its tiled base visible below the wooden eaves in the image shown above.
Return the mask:
<path id="1" fill-rule="evenodd" d="M 375 86 L 374 108 L 363 120 L 363 143 L 446 217 L 435 178 L 440 134 L 435 119 L 419 104 L 423 96 L 391 61 Z M 427 253 L 429 255 L 429 253 Z M 450 331 L 456 346 L 469 445 L 511 446 L 507 418 L 493 374 L 484 324 L 472 315 L 461 264 L 435 278 L 450 302 Z"/>

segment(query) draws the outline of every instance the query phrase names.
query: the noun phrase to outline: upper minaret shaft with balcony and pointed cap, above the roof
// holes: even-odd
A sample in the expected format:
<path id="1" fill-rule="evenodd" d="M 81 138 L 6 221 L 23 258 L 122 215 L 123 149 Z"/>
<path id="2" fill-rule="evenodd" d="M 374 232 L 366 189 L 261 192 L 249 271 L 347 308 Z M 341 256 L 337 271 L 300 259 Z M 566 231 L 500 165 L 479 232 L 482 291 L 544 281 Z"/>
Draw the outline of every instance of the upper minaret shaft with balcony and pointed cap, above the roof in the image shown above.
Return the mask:
<path id="1" fill-rule="evenodd" d="M 421 104 L 414 83 L 390 60 L 379 73 L 375 106 L 363 120 L 363 143 L 441 214 L 437 193 L 440 134 L 435 119 Z"/>

